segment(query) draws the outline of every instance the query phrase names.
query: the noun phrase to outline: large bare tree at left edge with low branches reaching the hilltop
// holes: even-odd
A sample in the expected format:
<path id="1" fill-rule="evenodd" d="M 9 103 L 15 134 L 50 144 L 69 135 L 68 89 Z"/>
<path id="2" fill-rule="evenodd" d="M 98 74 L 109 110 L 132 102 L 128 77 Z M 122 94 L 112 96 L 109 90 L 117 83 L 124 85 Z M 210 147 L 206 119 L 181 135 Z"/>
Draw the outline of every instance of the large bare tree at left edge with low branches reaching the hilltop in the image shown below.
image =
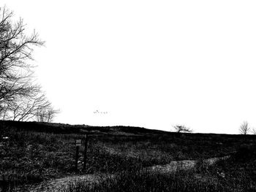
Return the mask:
<path id="1" fill-rule="evenodd" d="M 13 12 L 0 8 L 0 118 L 31 120 L 39 111 L 48 111 L 48 121 L 56 110 L 33 82 L 33 47 L 42 46 L 37 33 L 26 36 L 23 20 L 12 21 Z"/>

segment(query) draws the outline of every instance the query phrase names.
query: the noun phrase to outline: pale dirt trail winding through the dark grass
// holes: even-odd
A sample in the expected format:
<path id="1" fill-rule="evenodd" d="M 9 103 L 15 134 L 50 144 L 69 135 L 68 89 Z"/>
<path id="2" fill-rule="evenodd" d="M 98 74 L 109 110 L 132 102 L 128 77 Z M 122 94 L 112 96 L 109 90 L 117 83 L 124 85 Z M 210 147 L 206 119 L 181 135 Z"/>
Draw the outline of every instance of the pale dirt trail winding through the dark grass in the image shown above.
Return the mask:
<path id="1" fill-rule="evenodd" d="M 222 158 L 208 158 L 205 161 L 211 165 L 216 161 L 221 159 L 227 159 L 229 156 L 225 156 Z M 161 172 L 161 173 L 170 173 L 176 172 L 177 170 L 187 170 L 192 169 L 196 164 L 196 161 L 193 160 L 184 160 L 184 161 L 171 161 L 170 164 L 165 165 L 156 165 L 156 166 L 148 166 L 143 171 L 145 172 Z M 113 174 L 86 174 L 86 175 L 78 175 L 71 177 L 63 177 L 55 180 L 47 180 L 37 185 L 27 186 L 26 191 L 31 192 L 46 192 L 46 191 L 64 191 L 67 188 L 68 184 L 74 184 L 78 181 L 82 181 L 83 183 L 98 183 L 99 179 L 102 181 L 104 178 L 115 177 Z"/>

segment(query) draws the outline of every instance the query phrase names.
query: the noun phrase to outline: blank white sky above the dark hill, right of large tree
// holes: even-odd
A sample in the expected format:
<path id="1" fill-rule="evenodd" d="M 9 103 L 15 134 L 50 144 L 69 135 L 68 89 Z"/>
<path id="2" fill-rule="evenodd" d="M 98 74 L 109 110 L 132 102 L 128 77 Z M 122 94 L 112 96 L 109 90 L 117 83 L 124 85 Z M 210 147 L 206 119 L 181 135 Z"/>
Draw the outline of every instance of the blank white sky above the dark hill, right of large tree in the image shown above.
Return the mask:
<path id="1" fill-rule="evenodd" d="M 34 58 L 56 122 L 256 127 L 256 1 L 0 2 L 46 41 Z"/>

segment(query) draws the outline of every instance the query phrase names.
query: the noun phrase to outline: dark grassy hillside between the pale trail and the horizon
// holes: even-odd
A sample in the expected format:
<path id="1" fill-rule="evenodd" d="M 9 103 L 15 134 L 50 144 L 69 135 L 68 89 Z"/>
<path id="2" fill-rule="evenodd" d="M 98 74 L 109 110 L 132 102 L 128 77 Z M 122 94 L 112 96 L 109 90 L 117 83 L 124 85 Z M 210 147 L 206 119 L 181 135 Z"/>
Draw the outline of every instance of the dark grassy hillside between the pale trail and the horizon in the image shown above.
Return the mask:
<path id="1" fill-rule="evenodd" d="M 84 141 L 84 134 L 89 134 L 86 170 L 82 171 L 82 145 L 76 172 L 75 140 Z M 233 156 L 241 147 L 254 145 L 255 135 L 0 121 L 0 185 L 29 185 L 78 174 L 134 172 L 148 166 L 165 167 L 173 161 Z M 250 164 L 253 162 L 251 158 Z"/>

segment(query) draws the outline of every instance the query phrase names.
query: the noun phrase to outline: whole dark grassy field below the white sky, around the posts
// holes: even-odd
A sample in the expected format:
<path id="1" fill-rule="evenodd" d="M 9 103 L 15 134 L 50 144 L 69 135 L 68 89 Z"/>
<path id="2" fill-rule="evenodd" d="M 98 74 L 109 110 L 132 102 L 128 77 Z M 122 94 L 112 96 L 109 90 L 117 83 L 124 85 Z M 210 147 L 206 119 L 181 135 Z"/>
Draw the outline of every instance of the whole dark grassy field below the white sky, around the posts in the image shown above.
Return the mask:
<path id="1" fill-rule="evenodd" d="M 82 145 L 77 172 L 75 139 L 84 134 L 89 134 L 86 170 Z M 67 178 L 78 180 L 58 191 L 256 191 L 255 146 L 255 135 L 0 121 L 0 191 L 29 191 L 39 184 L 41 191 L 56 191 L 49 183 Z M 206 161 L 216 157 L 226 158 Z M 151 171 L 175 162 L 195 164 Z M 79 179 L 84 177 L 93 182 Z"/>

